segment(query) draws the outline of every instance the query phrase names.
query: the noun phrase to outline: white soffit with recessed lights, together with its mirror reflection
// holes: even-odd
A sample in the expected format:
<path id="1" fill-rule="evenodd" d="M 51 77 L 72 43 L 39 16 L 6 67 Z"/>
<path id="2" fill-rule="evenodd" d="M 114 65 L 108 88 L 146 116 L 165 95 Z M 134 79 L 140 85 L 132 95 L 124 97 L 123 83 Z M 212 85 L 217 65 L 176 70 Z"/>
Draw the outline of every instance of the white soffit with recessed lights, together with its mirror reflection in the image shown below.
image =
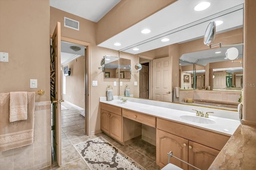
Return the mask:
<path id="1" fill-rule="evenodd" d="M 100 43 L 98 46 L 138 54 L 166 45 L 200 38 L 204 35 L 206 27 L 211 20 L 224 21 L 222 25 L 217 27 L 216 31 L 241 27 L 243 24 L 242 10 L 232 14 L 228 14 L 232 10 L 223 11 L 243 4 L 244 0 L 210 0 L 211 6 L 208 9 L 196 12 L 193 8 L 199 2 L 202 2 L 202 0 L 178 0 L 145 20 Z M 222 14 L 217 14 L 220 12 Z M 222 16 L 223 13 L 227 14 L 226 17 Z M 140 31 L 145 28 L 150 29 L 151 32 L 142 34 Z M 162 35 L 163 33 L 166 33 L 166 36 Z M 170 41 L 161 42 L 160 38 L 157 39 L 158 37 L 168 37 Z M 122 45 L 114 46 L 116 42 Z M 135 47 L 140 50 L 132 50 Z"/>

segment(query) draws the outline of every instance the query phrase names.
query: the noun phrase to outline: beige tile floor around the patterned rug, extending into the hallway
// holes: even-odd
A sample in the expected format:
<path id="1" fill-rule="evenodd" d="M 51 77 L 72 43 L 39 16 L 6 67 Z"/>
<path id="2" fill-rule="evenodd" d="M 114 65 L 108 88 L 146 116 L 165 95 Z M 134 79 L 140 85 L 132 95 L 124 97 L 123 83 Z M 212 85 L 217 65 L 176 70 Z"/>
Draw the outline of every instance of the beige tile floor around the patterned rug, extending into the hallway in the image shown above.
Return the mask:
<path id="1" fill-rule="evenodd" d="M 85 123 L 84 117 L 79 115 L 80 109 L 65 102 L 63 102 L 62 105 L 68 108 L 68 110 L 61 111 L 62 166 L 58 167 L 56 157 L 54 152 L 52 152 L 52 166 L 51 168 L 44 168 L 44 170 L 89 170 L 88 166 L 84 160 L 82 160 L 73 145 L 100 136 L 130 156 L 130 158 L 138 162 L 138 164 L 143 166 L 146 170 L 160 170 L 160 167 L 156 165 L 155 146 L 142 141 L 141 139 L 132 142 L 130 145 L 123 146 L 105 133 L 99 133 L 92 136 L 84 135 Z"/>

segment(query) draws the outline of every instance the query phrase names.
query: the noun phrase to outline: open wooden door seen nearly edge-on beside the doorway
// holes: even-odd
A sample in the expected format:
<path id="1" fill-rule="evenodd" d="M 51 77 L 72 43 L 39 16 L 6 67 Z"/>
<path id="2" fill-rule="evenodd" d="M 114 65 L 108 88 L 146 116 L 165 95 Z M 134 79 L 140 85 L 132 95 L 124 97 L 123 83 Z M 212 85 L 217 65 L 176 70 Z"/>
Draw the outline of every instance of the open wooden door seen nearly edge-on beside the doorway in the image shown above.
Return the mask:
<path id="1" fill-rule="evenodd" d="M 55 99 L 53 101 L 53 148 L 58 165 L 61 165 L 61 71 L 60 71 L 60 22 L 57 23 L 52 35 L 52 46 L 55 59 Z"/>

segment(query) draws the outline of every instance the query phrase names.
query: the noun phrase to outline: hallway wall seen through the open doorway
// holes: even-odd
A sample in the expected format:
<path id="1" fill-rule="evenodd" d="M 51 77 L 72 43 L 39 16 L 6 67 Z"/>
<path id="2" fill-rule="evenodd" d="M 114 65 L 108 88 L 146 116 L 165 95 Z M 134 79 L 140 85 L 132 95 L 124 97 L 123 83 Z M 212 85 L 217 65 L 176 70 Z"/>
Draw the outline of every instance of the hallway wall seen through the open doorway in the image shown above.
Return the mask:
<path id="1" fill-rule="evenodd" d="M 70 76 L 66 77 L 66 94 L 62 94 L 62 99 L 76 106 L 84 108 L 84 75 L 85 75 L 85 57 L 80 56 L 76 60 L 68 64 L 68 69 L 71 68 Z"/>

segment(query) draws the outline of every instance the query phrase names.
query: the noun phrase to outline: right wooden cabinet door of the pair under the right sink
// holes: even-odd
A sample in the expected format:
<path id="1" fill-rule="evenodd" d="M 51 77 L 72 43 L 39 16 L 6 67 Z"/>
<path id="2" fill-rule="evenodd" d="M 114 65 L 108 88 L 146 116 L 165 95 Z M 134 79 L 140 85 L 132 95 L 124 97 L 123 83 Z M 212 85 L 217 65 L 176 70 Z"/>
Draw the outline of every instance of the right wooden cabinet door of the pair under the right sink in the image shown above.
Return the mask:
<path id="1" fill-rule="evenodd" d="M 196 168 L 208 170 L 219 152 L 219 150 L 189 141 L 188 161 L 190 164 L 196 166 Z M 189 167 L 189 170 L 194 170 L 194 168 Z"/>

